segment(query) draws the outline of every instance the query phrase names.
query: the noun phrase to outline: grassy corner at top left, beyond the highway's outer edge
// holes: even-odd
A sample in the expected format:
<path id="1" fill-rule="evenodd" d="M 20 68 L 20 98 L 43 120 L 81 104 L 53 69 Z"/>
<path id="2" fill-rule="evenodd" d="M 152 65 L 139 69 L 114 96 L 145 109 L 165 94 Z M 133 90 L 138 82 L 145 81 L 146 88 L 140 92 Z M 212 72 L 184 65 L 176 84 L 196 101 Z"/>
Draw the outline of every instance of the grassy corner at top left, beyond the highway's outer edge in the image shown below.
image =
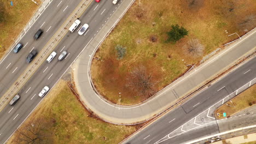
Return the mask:
<path id="1" fill-rule="evenodd" d="M 31 0 L 0 0 L 0 58 L 31 19 L 38 5 Z M 37 0 L 40 4 L 40 1 Z"/>

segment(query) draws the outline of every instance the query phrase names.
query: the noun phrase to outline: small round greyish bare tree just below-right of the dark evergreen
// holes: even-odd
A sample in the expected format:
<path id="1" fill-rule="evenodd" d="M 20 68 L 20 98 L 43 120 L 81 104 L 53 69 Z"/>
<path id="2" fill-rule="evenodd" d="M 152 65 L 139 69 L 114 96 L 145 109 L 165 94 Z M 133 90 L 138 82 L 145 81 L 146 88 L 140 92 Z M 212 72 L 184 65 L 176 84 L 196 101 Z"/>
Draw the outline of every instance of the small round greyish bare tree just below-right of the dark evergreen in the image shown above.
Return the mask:
<path id="1" fill-rule="evenodd" d="M 199 57 L 203 55 L 205 47 L 199 42 L 198 39 L 191 39 L 187 45 L 183 47 L 184 51 L 191 57 Z"/>

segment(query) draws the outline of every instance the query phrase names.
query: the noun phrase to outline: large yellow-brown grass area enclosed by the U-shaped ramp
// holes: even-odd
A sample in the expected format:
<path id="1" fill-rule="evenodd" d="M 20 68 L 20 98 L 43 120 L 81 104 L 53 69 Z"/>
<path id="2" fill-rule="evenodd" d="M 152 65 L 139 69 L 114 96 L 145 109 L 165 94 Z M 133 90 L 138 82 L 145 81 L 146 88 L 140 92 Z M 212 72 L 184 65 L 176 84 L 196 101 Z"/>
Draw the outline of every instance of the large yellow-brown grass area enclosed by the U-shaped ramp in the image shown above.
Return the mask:
<path id="1" fill-rule="evenodd" d="M 135 1 L 92 61 L 97 91 L 115 104 L 148 99 L 190 66 L 255 27 L 255 1 Z M 172 25 L 188 35 L 167 43 Z M 191 45 L 200 50 L 188 49 Z"/>

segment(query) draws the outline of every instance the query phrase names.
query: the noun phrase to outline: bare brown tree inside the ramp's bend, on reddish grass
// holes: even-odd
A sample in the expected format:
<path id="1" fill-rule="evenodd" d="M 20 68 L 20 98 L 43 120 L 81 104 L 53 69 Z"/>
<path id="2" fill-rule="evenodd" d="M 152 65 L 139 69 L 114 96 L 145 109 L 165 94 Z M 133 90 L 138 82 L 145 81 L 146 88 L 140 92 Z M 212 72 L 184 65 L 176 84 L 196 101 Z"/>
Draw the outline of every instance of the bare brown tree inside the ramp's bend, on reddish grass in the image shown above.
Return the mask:
<path id="1" fill-rule="evenodd" d="M 155 93 L 152 75 L 146 73 L 146 68 L 143 65 L 133 69 L 130 73 L 126 87 L 130 91 L 136 92 L 139 96 L 151 96 Z"/>

